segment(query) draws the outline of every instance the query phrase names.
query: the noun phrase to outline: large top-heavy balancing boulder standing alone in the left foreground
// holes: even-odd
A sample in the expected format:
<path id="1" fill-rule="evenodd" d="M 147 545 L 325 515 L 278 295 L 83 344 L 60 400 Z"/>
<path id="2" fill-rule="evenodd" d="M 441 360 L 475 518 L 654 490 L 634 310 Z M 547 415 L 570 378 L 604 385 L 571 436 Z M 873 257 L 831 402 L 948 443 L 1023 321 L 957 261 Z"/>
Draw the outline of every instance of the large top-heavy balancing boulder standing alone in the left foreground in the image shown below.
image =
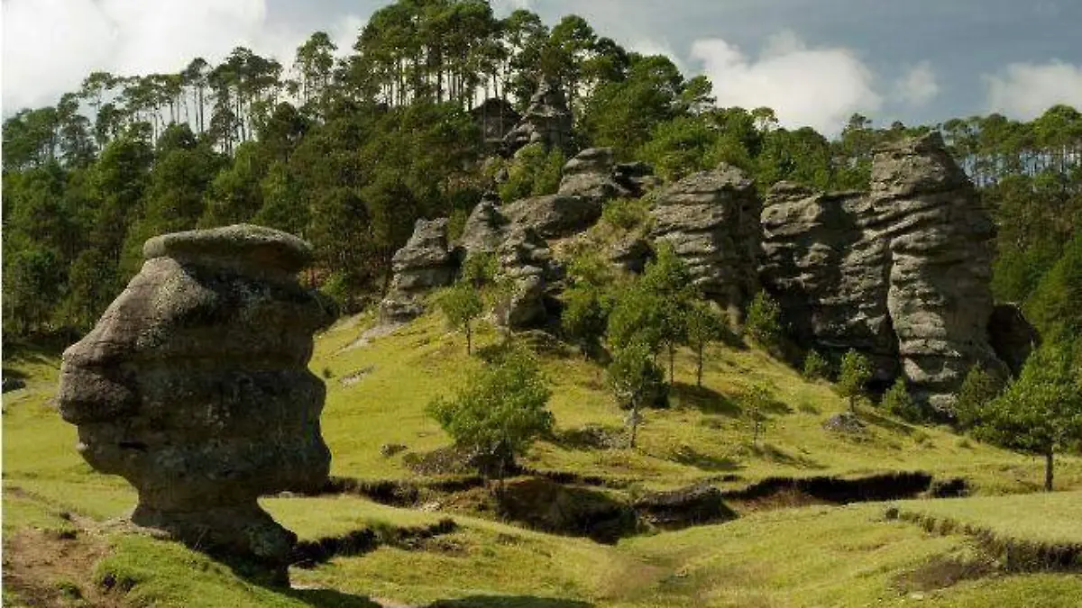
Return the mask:
<path id="1" fill-rule="evenodd" d="M 285 572 L 295 536 L 256 499 L 330 466 L 307 369 L 330 320 L 295 274 L 304 241 L 230 226 L 150 239 L 146 262 L 64 353 L 58 402 L 95 470 L 138 490 L 132 521 Z"/>

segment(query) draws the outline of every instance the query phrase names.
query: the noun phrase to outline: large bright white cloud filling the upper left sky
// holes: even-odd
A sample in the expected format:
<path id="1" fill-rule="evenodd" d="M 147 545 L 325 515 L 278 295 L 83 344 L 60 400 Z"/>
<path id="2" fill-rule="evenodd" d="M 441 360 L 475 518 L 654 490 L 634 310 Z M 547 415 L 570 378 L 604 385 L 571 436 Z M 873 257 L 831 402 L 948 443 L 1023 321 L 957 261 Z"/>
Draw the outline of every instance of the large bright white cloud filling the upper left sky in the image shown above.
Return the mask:
<path id="1" fill-rule="evenodd" d="M 359 22 L 330 31 L 344 37 Z M 94 70 L 177 71 L 238 45 L 288 68 L 309 35 L 268 23 L 267 0 L 3 0 L 3 113 L 54 104 Z"/>

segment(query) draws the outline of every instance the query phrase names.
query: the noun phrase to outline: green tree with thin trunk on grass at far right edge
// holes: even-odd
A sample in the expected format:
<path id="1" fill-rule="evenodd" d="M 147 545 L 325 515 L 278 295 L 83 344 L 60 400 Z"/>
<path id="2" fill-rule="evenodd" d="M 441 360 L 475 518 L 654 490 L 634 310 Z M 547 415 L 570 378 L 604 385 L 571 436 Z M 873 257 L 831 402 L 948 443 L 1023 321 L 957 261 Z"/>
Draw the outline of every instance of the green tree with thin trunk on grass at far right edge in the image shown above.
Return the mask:
<path id="1" fill-rule="evenodd" d="M 1068 347 L 1050 344 L 1030 355 L 1017 380 L 980 412 L 974 434 L 1047 460 L 1045 489 L 1053 487 L 1053 457 L 1082 441 L 1082 367 Z"/>

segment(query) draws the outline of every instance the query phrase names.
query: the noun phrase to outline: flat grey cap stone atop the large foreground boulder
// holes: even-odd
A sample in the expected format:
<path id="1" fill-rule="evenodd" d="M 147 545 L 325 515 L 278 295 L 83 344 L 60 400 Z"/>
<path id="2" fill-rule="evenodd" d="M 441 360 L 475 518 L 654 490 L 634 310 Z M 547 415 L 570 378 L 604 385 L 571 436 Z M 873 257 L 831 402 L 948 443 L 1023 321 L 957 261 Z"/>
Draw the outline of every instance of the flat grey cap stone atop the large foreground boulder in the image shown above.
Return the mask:
<path id="1" fill-rule="evenodd" d="M 312 246 L 274 228 L 236 224 L 154 237 L 143 246 L 143 257 L 173 257 L 182 262 L 233 260 L 295 273 L 312 261 Z"/>

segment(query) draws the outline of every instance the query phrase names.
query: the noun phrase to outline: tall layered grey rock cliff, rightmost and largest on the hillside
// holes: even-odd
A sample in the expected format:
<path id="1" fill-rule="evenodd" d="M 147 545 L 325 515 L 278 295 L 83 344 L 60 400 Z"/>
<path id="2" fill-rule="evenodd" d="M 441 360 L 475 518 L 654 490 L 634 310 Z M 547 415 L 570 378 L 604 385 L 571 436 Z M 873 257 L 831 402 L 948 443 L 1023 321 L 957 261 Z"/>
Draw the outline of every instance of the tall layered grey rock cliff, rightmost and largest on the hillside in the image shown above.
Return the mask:
<path id="1" fill-rule="evenodd" d="M 902 373 L 945 412 L 973 365 L 1003 371 L 988 338 L 993 226 L 938 134 L 876 150 L 867 194 L 779 184 L 762 224 L 762 279 L 807 345 L 863 351 L 880 380 Z"/>

